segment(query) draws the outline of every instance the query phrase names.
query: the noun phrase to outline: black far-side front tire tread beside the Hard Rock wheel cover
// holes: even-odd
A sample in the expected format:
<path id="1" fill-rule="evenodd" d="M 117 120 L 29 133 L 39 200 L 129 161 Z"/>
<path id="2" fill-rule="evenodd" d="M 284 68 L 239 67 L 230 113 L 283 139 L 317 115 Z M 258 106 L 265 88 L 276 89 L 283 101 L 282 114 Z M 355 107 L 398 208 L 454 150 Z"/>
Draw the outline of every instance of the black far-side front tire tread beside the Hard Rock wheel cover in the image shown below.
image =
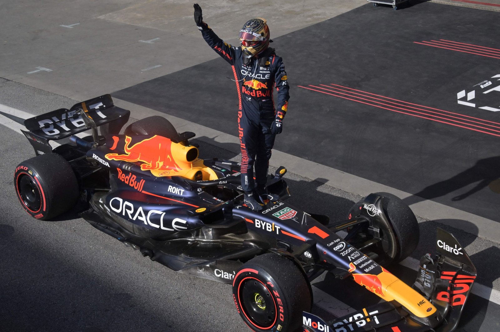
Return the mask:
<path id="1" fill-rule="evenodd" d="M 396 256 L 392 262 L 399 262 L 410 255 L 420 238 L 415 214 L 399 197 L 388 192 L 375 192 L 383 196 L 382 207 L 396 237 Z"/>

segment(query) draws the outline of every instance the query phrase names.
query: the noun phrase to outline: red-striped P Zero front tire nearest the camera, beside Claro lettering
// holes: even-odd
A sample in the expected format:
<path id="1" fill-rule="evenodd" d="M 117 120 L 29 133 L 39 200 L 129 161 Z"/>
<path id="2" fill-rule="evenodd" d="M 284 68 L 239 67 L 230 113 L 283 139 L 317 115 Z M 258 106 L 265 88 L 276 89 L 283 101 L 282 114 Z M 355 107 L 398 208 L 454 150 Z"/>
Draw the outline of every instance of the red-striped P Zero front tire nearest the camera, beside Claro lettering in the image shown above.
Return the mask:
<path id="1" fill-rule="evenodd" d="M 253 331 L 301 330 L 302 311 L 309 311 L 311 292 L 295 263 L 265 253 L 241 265 L 232 283 L 239 315 Z"/>

